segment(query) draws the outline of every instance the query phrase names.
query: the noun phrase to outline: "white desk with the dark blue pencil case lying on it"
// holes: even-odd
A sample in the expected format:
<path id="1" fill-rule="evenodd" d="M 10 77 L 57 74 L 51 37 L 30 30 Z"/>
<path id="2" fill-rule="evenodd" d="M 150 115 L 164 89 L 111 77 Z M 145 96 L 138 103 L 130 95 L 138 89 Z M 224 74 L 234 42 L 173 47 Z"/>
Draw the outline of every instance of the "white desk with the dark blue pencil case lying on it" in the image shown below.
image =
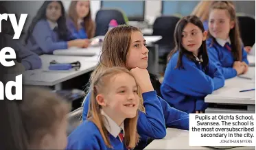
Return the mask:
<path id="1" fill-rule="evenodd" d="M 62 82 L 93 71 L 97 65 L 97 62 L 86 61 L 84 57 L 78 56 L 40 55 L 40 58 L 43 62 L 43 67 L 33 71 L 25 71 L 23 73 L 23 84 L 30 86 L 54 86 L 55 90 L 61 90 Z M 47 68 L 51 60 L 56 60 L 57 62 L 79 61 L 81 68 L 78 71 L 49 71 Z"/>

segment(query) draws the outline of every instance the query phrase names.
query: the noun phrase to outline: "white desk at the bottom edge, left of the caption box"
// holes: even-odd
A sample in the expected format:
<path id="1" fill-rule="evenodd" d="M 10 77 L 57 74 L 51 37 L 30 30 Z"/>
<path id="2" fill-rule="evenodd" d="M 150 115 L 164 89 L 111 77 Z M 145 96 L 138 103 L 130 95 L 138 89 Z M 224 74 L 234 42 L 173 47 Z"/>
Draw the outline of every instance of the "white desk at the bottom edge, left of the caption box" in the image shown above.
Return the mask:
<path id="1" fill-rule="evenodd" d="M 189 131 L 167 128 L 166 132 L 165 138 L 153 140 L 145 149 L 214 149 L 189 146 Z M 255 147 L 235 147 L 229 150 L 235 149 L 255 149 Z"/>

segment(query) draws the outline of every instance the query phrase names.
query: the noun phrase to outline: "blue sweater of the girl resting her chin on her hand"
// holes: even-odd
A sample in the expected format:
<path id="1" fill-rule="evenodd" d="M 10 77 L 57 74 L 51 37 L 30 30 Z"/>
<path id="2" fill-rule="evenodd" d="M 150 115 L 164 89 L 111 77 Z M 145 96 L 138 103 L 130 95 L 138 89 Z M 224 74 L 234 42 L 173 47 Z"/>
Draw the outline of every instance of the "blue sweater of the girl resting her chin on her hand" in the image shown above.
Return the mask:
<path id="1" fill-rule="evenodd" d="M 82 120 L 86 120 L 89 110 L 91 92 L 86 96 L 83 103 Z M 137 131 L 141 136 L 141 145 L 146 145 L 148 138 L 164 138 L 166 127 L 176 127 L 178 129 L 189 129 L 189 115 L 175 108 L 171 108 L 166 101 L 156 95 L 155 91 L 144 92 L 142 94 L 143 105 L 146 114 L 139 111 Z"/>

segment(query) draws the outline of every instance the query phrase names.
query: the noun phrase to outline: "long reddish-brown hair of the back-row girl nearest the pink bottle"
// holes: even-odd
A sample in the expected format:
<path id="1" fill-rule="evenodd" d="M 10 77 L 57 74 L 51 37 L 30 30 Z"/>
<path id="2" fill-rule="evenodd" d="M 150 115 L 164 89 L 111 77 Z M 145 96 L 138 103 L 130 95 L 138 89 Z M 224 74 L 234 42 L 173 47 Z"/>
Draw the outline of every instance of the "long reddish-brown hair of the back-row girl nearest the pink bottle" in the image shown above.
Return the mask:
<path id="1" fill-rule="evenodd" d="M 73 21 L 76 29 L 78 29 L 78 13 L 75 10 L 77 3 L 78 1 L 71 1 L 69 5 L 69 18 L 71 19 L 71 21 Z M 84 21 L 84 28 L 86 29 L 86 34 L 88 38 L 93 38 L 95 34 L 95 25 L 93 23 L 93 19 L 91 18 L 90 5 L 89 5 L 89 12 L 87 16 L 84 17 L 83 21 Z"/>

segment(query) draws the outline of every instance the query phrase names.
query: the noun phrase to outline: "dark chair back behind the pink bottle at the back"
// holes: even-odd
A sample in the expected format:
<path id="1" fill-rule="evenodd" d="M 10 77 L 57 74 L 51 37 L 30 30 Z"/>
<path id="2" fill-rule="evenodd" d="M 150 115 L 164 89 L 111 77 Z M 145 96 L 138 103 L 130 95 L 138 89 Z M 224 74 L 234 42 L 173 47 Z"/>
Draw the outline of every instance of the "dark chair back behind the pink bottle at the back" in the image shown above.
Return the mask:
<path id="1" fill-rule="evenodd" d="M 108 24 L 112 19 L 115 19 L 118 25 L 128 24 L 128 18 L 121 10 L 103 8 L 97 12 L 95 17 L 95 36 L 105 36 L 108 32 Z"/>

